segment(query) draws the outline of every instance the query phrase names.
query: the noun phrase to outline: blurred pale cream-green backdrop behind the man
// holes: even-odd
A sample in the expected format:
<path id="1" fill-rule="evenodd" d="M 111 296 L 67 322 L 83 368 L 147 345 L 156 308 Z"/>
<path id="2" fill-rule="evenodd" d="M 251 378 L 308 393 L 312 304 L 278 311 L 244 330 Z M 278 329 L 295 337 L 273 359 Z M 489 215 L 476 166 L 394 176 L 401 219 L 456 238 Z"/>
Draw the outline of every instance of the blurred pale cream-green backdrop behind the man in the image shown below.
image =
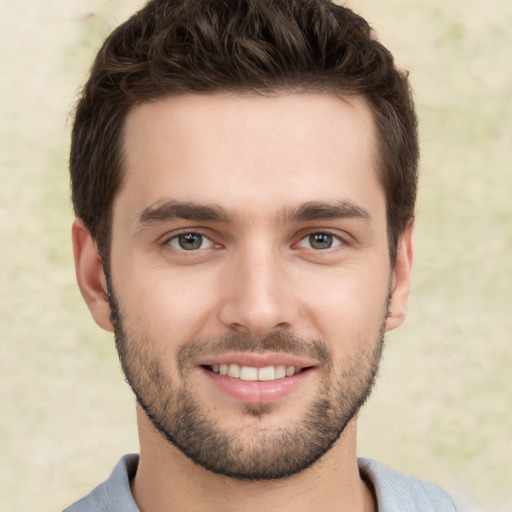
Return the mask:
<path id="1" fill-rule="evenodd" d="M 0 0 L 0 510 L 50 512 L 137 451 L 134 400 L 75 285 L 70 112 L 141 1 Z M 359 452 L 512 511 L 512 3 L 354 0 L 409 69 L 422 138 L 410 313 Z"/>

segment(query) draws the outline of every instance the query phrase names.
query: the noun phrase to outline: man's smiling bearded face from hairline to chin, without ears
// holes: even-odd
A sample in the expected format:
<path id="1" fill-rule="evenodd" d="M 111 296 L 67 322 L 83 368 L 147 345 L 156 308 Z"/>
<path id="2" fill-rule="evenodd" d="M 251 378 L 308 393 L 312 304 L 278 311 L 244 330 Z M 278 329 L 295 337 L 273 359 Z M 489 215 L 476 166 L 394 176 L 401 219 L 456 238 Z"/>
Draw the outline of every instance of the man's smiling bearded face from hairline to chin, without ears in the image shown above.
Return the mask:
<path id="1" fill-rule="evenodd" d="M 394 326 L 369 108 L 185 95 L 135 107 L 124 136 L 110 306 L 139 403 L 212 471 L 310 466 L 354 419 Z"/>

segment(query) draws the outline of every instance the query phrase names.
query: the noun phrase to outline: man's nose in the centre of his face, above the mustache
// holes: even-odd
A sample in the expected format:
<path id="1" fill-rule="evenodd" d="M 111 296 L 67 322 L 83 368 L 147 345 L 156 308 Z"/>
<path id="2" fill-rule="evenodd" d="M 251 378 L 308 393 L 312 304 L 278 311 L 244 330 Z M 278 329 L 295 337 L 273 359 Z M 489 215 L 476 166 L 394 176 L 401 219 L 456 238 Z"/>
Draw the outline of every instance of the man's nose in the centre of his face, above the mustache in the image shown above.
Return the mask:
<path id="1" fill-rule="evenodd" d="M 298 318 L 286 266 L 270 250 L 238 255 L 226 268 L 222 288 L 219 319 L 231 331 L 264 336 L 291 330 Z"/>

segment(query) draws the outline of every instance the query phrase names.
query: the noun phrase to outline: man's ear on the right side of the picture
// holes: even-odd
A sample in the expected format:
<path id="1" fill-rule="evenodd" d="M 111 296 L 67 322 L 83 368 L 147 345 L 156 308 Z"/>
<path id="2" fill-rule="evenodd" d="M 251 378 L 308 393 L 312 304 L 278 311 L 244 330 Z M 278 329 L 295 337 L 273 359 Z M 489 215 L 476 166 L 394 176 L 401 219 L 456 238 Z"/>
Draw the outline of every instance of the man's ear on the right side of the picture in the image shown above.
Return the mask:
<path id="1" fill-rule="evenodd" d="M 398 240 L 397 255 L 391 278 L 392 295 L 389 304 L 389 316 L 386 319 L 387 331 L 396 329 L 405 320 L 411 284 L 413 231 L 414 221 L 411 221 Z"/>

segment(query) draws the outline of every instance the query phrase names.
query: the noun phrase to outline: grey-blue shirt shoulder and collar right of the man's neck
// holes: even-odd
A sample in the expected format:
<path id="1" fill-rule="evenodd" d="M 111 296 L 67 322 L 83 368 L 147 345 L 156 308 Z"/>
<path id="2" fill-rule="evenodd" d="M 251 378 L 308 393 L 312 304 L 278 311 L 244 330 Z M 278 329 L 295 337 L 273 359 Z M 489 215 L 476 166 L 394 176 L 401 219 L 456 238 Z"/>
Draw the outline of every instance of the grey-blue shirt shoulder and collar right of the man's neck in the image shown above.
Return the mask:
<path id="1" fill-rule="evenodd" d="M 371 459 L 358 459 L 362 478 L 374 490 L 379 512 L 456 512 L 450 496 L 437 485 L 398 473 Z"/>

